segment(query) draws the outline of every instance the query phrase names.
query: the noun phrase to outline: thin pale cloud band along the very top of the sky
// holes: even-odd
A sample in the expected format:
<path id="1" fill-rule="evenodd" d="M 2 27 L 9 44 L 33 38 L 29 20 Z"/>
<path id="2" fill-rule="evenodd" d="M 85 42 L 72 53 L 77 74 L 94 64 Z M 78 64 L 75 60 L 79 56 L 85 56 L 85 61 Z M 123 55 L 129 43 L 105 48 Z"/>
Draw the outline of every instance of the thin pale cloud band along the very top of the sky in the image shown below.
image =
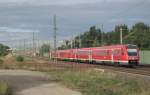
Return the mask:
<path id="1" fill-rule="evenodd" d="M 143 0 L 138 0 L 143 1 Z M 1 0 L 1 4 L 7 5 L 76 5 L 91 3 L 131 3 L 137 0 Z"/>

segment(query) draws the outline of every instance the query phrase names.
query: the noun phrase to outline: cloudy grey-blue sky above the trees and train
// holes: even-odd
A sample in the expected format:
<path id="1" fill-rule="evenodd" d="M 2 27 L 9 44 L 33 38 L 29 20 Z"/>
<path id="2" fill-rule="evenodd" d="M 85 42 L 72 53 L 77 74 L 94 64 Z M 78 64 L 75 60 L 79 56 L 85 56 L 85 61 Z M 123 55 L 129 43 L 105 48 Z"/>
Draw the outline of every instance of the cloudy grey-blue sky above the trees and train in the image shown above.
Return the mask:
<path id="1" fill-rule="evenodd" d="M 0 42 L 28 39 L 53 40 L 53 16 L 57 17 L 58 43 L 91 26 L 109 32 L 115 25 L 150 24 L 150 0 L 0 0 Z"/>

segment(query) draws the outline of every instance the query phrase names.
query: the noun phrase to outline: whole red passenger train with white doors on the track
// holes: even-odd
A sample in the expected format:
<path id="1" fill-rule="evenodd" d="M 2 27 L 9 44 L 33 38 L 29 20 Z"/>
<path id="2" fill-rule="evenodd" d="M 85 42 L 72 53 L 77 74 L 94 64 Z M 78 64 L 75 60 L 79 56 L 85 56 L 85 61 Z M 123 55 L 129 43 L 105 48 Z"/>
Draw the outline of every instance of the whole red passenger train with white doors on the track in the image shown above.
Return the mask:
<path id="1" fill-rule="evenodd" d="M 112 45 L 94 48 L 58 50 L 54 58 L 59 60 L 85 61 L 138 65 L 139 49 L 136 45 Z"/>

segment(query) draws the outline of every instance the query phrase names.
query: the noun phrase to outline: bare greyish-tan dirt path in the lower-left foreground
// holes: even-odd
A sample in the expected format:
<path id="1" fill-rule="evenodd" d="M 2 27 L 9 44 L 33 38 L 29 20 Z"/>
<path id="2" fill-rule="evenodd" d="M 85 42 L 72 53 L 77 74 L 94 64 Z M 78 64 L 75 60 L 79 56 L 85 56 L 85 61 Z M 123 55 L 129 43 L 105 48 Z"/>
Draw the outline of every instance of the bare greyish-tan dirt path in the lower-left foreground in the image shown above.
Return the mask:
<path id="1" fill-rule="evenodd" d="M 14 95 L 81 95 L 54 81 L 45 73 L 25 70 L 0 70 L 0 81 L 13 88 Z"/>

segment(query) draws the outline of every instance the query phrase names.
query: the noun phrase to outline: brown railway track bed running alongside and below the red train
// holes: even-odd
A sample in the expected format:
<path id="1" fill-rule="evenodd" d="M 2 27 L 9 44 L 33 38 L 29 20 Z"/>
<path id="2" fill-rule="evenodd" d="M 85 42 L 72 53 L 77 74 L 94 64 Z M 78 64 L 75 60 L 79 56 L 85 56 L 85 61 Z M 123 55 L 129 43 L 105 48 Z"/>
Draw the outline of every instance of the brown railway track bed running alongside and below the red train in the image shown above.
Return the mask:
<path id="1" fill-rule="evenodd" d="M 36 60 L 44 60 L 45 64 L 50 65 L 56 63 L 58 66 L 61 64 L 61 66 L 75 66 L 76 68 L 84 68 L 84 67 L 92 67 L 96 69 L 104 69 L 104 70 L 112 70 L 112 71 L 118 71 L 118 72 L 123 72 L 123 73 L 130 73 L 130 74 L 138 74 L 138 75 L 145 75 L 145 76 L 150 76 L 150 65 L 139 65 L 135 66 L 133 68 L 130 68 L 128 66 L 114 66 L 114 65 L 102 65 L 102 64 L 86 64 L 86 63 L 77 63 L 77 62 L 68 62 L 68 61 L 49 61 L 47 59 L 43 58 L 37 58 Z"/>

